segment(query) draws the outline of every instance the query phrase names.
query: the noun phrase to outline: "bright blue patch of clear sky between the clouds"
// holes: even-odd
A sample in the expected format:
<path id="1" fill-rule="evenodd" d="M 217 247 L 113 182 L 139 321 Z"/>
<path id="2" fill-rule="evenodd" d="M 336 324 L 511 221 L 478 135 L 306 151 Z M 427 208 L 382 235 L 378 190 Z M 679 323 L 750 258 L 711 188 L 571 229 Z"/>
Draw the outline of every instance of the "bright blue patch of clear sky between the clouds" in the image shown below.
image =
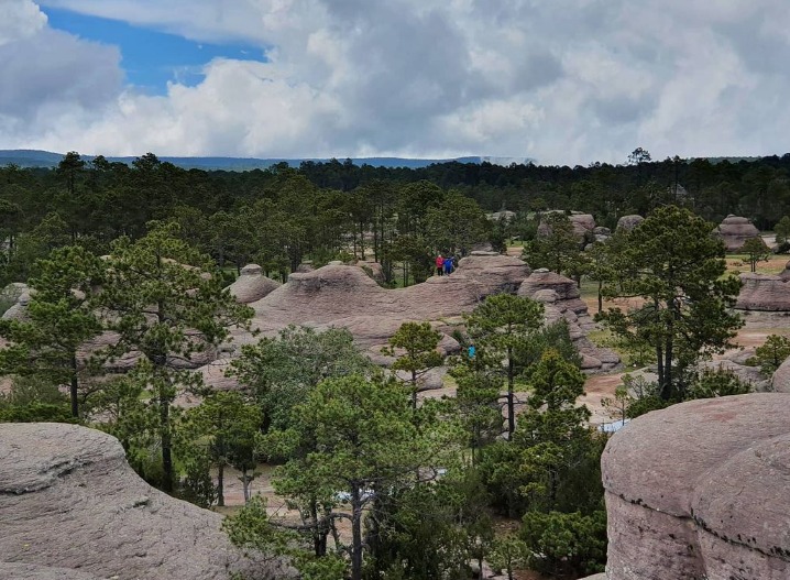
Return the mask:
<path id="1" fill-rule="evenodd" d="M 118 20 L 69 10 L 42 10 L 53 29 L 118 46 L 127 83 L 150 95 L 164 95 L 168 80 L 190 87 L 199 84 L 204 79 L 202 65 L 212 58 L 265 61 L 263 51 L 256 46 L 195 42 Z"/>

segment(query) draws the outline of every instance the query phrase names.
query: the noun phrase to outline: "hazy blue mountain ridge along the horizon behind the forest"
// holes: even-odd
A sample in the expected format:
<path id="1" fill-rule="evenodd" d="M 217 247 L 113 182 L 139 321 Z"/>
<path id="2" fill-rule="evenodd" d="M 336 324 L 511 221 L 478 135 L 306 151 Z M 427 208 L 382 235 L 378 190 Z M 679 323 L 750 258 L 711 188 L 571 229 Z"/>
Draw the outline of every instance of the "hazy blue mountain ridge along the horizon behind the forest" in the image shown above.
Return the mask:
<path id="1" fill-rule="evenodd" d="M 61 160 L 63 160 L 63 153 L 52 153 L 50 151 L 39 150 L 25 150 L 25 149 L 13 149 L 13 150 L 0 150 L 0 166 L 14 164 L 20 167 L 56 167 Z M 91 161 L 95 155 L 81 155 L 83 160 Z M 230 172 L 243 172 L 251 169 L 265 169 L 277 163 L 287 163 L 292 167 L 298 167 L 304 161 L 325 163 L 330 161 L 329 158 L 256 158 L 256 157 L 169 157 L 158 156 L 160 161 L 172 163 L 178 167 L 185 169 L 204 169 L 204 171 L 230 171 Z M 107 156 L 107 161 L 110 163 L 125 163 L 131 164 L 136 156 L 129 157 L 111 157 Z M 343 160 L 340 160 L 343 161 Z M 529 157 L 493 157 L 493 156 L 469 156 L 469 157 L 456 157 L 446 160 L 420 160 L 420 158 L 405 158 L 405 157 L 352 157 L 351 161 L 354 165 L 372 165 L 374 167 L 407 167 L 416 169 L 419 167 L 427 167 L 432 163 L 492 163 L 494 165 L 511 165 L 527 164 L 533 160 Z"/>

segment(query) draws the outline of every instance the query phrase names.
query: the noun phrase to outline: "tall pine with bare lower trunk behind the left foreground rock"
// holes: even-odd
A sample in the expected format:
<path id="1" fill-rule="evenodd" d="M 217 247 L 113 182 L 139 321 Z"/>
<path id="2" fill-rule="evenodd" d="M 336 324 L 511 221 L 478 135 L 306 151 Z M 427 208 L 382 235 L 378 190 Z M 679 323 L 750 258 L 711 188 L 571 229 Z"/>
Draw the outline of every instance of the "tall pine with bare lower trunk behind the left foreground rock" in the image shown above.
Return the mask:
<path id="1" fill-rule="evenodd" d="M 119 239 L 106 260 L 102 291 L 95 305 L 102 322 L 118 333 L 103 358 L 136 351 L 135 377 L 150 394 L 162 450 L 163 485 L 174 482 L 172 404 L 184 390 L 202 386 L 199 374 L 179 362 L 219 346 L 232 326 L 249 326 L 252 309 L 222 288 L 210 260 L 178 238 L 176 223 L 152 222 L 135 242 Z"/>

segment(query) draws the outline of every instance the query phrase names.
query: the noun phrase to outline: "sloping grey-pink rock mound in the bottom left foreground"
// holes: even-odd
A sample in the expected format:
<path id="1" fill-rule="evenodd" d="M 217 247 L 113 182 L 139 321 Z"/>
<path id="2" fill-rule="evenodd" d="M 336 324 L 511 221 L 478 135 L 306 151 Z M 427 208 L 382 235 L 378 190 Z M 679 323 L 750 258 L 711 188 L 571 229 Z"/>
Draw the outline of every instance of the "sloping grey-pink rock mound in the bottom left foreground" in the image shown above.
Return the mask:
<path id="1" fill-rule="evenodd" d="M 245 560 L 220 530 L 222 516 L 151 488 L 129 467 L 120 442 L 98 430 L 1 424 L 0 497 L 0 577 L 13 570 L 31 576 L 9 578 L 42 580 L 288 576 L 276 562 Z"/>

